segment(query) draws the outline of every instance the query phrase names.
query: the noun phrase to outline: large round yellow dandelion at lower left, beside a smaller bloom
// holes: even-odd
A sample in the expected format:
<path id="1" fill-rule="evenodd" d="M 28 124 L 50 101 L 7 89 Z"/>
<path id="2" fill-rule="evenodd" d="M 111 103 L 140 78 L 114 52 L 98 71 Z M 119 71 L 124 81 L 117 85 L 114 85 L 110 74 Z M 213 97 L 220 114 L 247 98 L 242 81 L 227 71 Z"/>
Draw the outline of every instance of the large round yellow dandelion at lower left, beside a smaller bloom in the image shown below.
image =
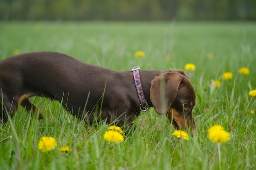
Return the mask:
<path id="1" fill-rule="evenodd" d="M 57 141 L 53 137 L 42 137 L 38 143 L 38 149 L 42 152 L 47 152 L 55 149 Z"/>

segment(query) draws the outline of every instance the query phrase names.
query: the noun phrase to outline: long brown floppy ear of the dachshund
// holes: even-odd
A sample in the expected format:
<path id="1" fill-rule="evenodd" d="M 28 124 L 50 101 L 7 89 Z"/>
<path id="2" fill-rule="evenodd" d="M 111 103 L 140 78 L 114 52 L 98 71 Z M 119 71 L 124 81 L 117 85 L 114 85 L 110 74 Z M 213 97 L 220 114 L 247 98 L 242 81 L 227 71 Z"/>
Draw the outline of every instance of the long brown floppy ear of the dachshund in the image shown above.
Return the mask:
<path id="1" fill-rule="evenodd" d="M 159 115 L 168 112 L 175 101 L 182 78 L 176 72 L 166 72 L 156 76 L 150 87 L 150 100 Z"/>

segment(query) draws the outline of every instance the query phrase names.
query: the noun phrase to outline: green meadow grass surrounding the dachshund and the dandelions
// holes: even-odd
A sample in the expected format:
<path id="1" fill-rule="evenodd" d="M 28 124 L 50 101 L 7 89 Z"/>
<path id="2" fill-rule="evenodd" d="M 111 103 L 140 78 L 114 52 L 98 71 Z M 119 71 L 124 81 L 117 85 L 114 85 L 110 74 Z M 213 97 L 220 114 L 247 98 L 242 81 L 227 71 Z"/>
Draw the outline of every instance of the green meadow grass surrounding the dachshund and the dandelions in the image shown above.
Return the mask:
<path id="1" fill-rule="evenodd" d="M 45 119 L 31 118 L 20 107 L 7 126 L 0 125 L 0 141 L 12 136 L 0 142 L 0 169 L 254 170 L 256 115 L 250 110 L 256 110 L 256 99 L 248 92 L 256 89 L 255 27 L 255 22 L 1 22 L 0 60 L 18 50 L 58 51 L 119 71 L 195 64 L 187 74 L 197 95 L 198 135 L 177 140 L 167 118 L 151 108 L 124 142 L 110 144 L 103 139 L 104 122 L 85 129 L 58 102 L 33 97 Z M 146 56 L 135 58 L 138 50 Z M 249 75 L 238 73 L 243 66 Z M 227 71 L 234 77 L 224 81 L 220 77 Z M 220 80 L 219 88 L 211 88 L 213 79 Z M 214 124 L 231 135 L 220 146 L 220 161 L 216 144 L 208 140 Z M 56 150 L 38 150 L 43 136 L 57 140 Z M 69 152 L 58 150 L 66 145 Z"/>

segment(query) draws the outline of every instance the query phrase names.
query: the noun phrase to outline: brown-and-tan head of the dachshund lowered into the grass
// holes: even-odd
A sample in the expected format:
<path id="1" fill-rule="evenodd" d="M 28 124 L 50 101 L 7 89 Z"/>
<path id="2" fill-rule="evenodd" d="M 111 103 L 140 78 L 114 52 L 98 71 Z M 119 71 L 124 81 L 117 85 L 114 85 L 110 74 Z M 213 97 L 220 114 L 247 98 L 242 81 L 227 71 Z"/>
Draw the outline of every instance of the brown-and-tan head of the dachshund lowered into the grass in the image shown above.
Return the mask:
<path id="1" fill-rule="evenodd" d="M 159 115 L 166 115 L 176 129 L 196 132 L 192 109 L 195 90 L 184 71 L 156 76 L 151 82 L 150 100 Z"/>

